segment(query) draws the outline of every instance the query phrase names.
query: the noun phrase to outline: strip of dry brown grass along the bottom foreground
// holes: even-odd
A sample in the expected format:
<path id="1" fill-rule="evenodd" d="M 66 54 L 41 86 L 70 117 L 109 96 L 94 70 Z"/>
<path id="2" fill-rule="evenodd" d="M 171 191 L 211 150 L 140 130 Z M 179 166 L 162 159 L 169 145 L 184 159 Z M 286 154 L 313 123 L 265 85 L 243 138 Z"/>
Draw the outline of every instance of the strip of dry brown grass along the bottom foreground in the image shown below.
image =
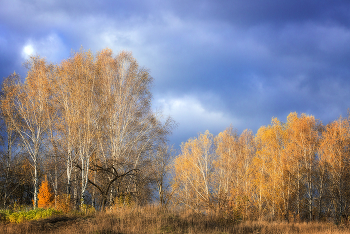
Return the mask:
<path id="1" fill-rule="evenodd" d="M 219 216 L 169 212 L 148 206 L 119 208 L 91 216 L 59 216 L 21 224 L 1 224 L 0 233 L 350 233 L 332 223 L 235 223 Z"/>

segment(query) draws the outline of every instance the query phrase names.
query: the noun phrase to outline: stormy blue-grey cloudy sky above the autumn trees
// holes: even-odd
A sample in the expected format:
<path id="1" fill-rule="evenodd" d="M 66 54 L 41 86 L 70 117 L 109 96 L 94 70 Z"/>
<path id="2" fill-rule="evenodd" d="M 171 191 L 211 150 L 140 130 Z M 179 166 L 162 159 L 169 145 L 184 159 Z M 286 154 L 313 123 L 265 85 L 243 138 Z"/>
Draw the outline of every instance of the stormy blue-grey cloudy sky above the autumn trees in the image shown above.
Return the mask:
<path id="1" fill-rule="evenodd" d="M 154 78 L 170 143 L 290 112 L 324 124 L 350 107 L 350 1 L 0 0 L 0 78 L 38 54 L 131 51 Z"/>

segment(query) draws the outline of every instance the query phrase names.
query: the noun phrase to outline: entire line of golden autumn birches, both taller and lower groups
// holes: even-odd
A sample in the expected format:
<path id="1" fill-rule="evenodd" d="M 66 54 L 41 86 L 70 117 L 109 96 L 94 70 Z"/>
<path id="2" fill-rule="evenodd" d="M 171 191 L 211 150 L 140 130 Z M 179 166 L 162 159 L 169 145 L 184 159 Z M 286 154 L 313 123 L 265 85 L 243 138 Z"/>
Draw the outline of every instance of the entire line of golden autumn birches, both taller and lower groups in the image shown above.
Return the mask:
<path id="1" fill-rule="evenodd" d="M 238 220 L 349 215 L 350 118 L 323 125 L 290 113 L 255 135 L 206 131 L 172 158 L 176 124 L 152 111 L 152 77 L 131 53 L 81 49 L 59 64 L 33 56 L 26 67 L 24 80 L 13 73 L 2 83 L 2 207 L 36 208 L 50 185 L 55 207 L 62 198 L 76 209 L 142 205 L 157 193 L 162 205 Z"/>

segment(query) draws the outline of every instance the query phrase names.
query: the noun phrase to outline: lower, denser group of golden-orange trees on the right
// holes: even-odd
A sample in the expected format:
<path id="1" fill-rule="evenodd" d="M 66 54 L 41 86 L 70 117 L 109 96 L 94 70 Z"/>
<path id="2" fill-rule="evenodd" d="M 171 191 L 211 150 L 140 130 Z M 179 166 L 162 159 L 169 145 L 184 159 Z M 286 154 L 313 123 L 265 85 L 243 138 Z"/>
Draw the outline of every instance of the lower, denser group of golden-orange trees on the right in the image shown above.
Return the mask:
<path id="1" fill-rule="evenodd" d="M 175 201 L 238 219 L 325 220 L 350 214 L 350 119 L 324 126 L 313 116 L 273 118 L 254 136 L 229 128 L 181 146 Z"/>

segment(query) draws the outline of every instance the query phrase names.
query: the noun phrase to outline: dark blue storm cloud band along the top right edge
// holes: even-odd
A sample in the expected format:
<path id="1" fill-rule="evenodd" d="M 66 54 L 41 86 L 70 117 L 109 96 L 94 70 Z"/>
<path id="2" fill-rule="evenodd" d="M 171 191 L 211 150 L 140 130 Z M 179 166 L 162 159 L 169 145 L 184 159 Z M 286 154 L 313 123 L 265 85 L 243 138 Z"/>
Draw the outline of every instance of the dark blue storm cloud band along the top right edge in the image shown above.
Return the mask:
<path id="1" fill-rule="evenodd" d="M 290 22 L 336 21 L 349 24 L 349 3 L 324 0 L 217 0 L 171 1 L 169 5 L 181 16 L 223 20 L 240 26 L 272 24 L 283 26 Z"/>

